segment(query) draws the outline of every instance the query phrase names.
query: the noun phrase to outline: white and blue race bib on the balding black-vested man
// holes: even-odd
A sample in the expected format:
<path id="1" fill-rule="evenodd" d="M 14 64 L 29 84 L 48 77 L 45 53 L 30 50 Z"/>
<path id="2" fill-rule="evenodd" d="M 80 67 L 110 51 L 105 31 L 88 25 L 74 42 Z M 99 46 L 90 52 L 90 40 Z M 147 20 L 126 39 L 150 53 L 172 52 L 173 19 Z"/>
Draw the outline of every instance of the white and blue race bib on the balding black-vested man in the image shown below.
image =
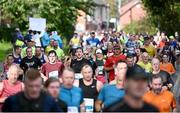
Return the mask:
<path id="1" fill-rule="evenodd" d="M 94 99 L 84 98 L 86 112 L 93 112 L 94 110 Z"/>

